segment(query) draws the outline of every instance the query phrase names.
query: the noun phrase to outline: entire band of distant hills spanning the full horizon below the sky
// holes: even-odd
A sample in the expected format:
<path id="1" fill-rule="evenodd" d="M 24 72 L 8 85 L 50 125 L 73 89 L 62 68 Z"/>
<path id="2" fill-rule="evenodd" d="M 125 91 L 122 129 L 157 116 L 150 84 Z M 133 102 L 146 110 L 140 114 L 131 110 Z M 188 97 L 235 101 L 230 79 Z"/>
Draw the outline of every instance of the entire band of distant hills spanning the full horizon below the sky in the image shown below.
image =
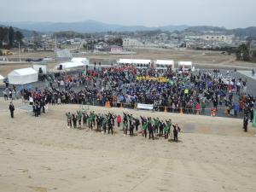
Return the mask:
<path id="1" fill-rule="evenodd" d="M 107 24 L 96 20 L 85 20 L 81 22 L 1 22 L 0 26 L 14 26 L 15 30 L 19 30 L 25 37 L 31 37 L 32 31 L 39 33 L 45 32 L 136 32 L 136 31 L 163 31 L 178 32 L 188 35 L 201 35 L 205 32 L 224 32 L 226 34 L 235 34 L 238 37 L 256 37 L 256 26 L 247 28 L 226 29 L 219 26 L 123 26 L 115 24 Z"/>

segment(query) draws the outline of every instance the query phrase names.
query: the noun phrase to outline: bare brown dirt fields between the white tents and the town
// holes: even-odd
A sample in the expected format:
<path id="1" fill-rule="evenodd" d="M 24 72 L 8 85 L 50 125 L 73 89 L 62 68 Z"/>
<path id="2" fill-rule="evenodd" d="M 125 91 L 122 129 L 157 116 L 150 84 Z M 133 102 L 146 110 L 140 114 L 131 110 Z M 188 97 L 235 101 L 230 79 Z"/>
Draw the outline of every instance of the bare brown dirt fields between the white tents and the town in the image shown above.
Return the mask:
<path id="1" fill-rule="evenodd" d="M 195 67 L 206 68 L 240 68 L 242 70 L 250 70 L 256 67 L 255 63 L 236 61 L 235 55 L 223 55 L 218 51 L 202 51 L 189 49 L 135 49 L 136 55 L 132 55 L 134 59 L 150 59 L 150 60 L 174 60 L 174 61 L 193 61 Z M 17 51 L 15 55 L 9 56 L 14 60 L 18 59 Z M 54 57 L 54 52 L 25 52 L 21 53 L 23 61 L 26 58 L 44 58 L 46 56 Z M 102 64 L 111 64 L 120 58 L 131 59 L 131 55 L 109 55 L 109 54 L 86 54 L 80 55 L 90 59 L 90 63 L 101 61 Z M 10 60 L 11 60 L 10 58 Z M 56 63 L 49 64 L 49 69 L 55 67 Z M 32 63 L 23 64 L 0 64 L 0 74 L 7 76 L 12 70 L 16 68 L 31 67 Z"/>

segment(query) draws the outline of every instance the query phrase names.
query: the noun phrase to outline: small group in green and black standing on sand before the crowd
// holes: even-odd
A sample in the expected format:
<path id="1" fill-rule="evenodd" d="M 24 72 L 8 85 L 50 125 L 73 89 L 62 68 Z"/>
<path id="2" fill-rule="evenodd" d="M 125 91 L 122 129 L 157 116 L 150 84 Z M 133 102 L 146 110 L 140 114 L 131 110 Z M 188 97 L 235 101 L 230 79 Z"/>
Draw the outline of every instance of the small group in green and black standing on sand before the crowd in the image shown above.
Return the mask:
<path id="1" fill-rule="evenodd" d="M 172 124 L 172 119 L 163 120 L 159 118 L 143 117 L 140 118 L 133 117 L 132 114 L 123 113 L 123 118 L 121 116 L 115 115 L 113 113 L 95 113 L 81 112 L 76 113 L 66 113 L 67 116 L 67 127 L 68 128 L 84 128 L 87 126 L 90 130 L 95 129 L 96 131 L 102 131 L 103 133 L 112 134 L 115 127 L 115 122 L 117 127 L 122 129 L 125 136 L 128 134 L 133 137 L 136 133 L 140 133 L 143 137 L 148 137 L 148 139 L 153 139 L 155 136 L 164 137 L 165 140 L 172 137 L 173 140 L 177 142 L 177 134 L 181 131 L 179 125 Z M 122 125 L 121 125 L 122 124 Z"/>

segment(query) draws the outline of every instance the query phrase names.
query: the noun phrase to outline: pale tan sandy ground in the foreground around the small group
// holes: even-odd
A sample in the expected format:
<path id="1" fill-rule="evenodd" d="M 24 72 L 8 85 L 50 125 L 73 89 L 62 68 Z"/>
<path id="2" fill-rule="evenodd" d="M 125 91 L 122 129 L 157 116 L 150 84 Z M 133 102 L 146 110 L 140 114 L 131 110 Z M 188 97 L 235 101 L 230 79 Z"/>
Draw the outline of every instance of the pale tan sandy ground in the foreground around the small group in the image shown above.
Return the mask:
<path id="1" fill-rule="evenodd" d="M 90 107 L 96 113 L 122 113 L 180 123 L 180 143 L 67 129 L 67 111 L 76 105 L 49 106 L 39 118 L 20 110 L 9 118 L 0 98 L 0 191 L 255 191 L 253 129 L 241 119 L 151 113 Z M 194 129 L 191 128 L 194 125 Z"/>

